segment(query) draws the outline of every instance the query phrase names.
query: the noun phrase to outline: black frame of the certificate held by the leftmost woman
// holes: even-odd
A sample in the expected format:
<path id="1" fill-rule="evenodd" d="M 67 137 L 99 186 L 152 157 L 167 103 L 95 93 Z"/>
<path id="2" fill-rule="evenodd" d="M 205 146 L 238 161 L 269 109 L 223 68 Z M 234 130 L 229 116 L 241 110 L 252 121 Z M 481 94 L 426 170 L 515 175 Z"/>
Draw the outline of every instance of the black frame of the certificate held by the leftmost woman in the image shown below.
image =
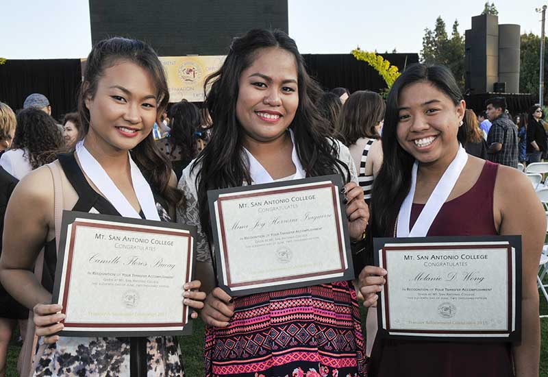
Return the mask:
<path id="1" fill-rule="evenodd" d="M 78 211 L 70 211 L 70 210 L 63 210 L 62 214 L 62 221 L 61 221 L 61 232 L 60 232 L 60 240 L 59 240 L 59 247 L 58 247 L 58 253 L 57 253 L 57 264 L 55 266 L 55 282 L 53 284 L 53 293 L 51 297 L 51 303 L 52 304 L 62 304 L 59 302 L 60 299 L 60 291 L 64 289 L 61 287 L 62 282 L 62 276 L 66 273 L 66 271 L 63 270 L 64 266 L 64 257 L 65 252 L 67 249 L 67 243 L 70 243 L 71 240 L 67 239 L 67 233 L 69 231 L 69 227 L 71 227 L 76 219 L 86 219 L 88 220 L 99 220 L 99 221 L 108 221 L 111 223 L 118 223 L 118 224 L 130 224 L 132 226 L 138 225 L 138 226 L 153 226 L 155 228 L 164 228 L 166 231 L 169 232 L 169 230 L 186 230 L 190 233 L 190 240 L 189 243 L 192 244 L 192 252 L 189 258 L 189 262 L 191 263 L 191 269 L 190 269 L 190 276 L 188 281 L 191 281 L 193 277 L 195 276 L 195 269 L 196 269 L 196 234 L 197 234 L 197 228 L 195 226 L 182 226 L 182 224 L 179 223 L 168 223 L 165 221 L 152 221 L 152 220 L 146 220 L 146 219 L 132 219 L 127 217 L 119 217 L 119 216 L 113 216 L 113 215 L 102 215 L 97 213 L 88 213 L 88 212 L 78 212 Z M 71 276 L 71 279 L 73 276 Z M 183 277 L 184 278 L 184 277 Z M 184 284 L 185 282 L 182 282 Z M 99 299 L 100 297 L 93 297 L 94 299 Z M 91 300 L 91 297 L 90 297 Z M 183 300 L 182 295 L 177 295 L 177 300 Z M 100 300 L 92 300 L 94 301 L 100 301 Z M 100 304 L 100 302 L 97 302 L 97 304 Z M 149 336 L 164 336 L 164 335 L 174 335 L 174 336 L 189 336 L 192 335 L 192 318 L 190 317 L 192 313 L 192 308 L 188 306 L 184 306 L 184 311 L 186 311 L 186 324 L 184 324 L 184 327 L 182 330 L 174 329 L 174 330 L 147 330 L 147 327 L 152 327 L 151 324 L 147 324 L 147 326 L 138 326 L 136 324 L 131 324 L 129 326 L 122 326 L 117 330 L 101 330 L 101 324 L 97 326 L 97 328 L 94 328 L 94 330 L 61 330 L 57 333 L 57 335 L 60 335 L 62 337 L 149 337 Z M 61 313 L 66 313 L 66 308 L 63 308 Z M 65 321 L 61 321 L 62 324 L 64 324 Z M 158 327 L 170 327 L 170 326 L 164 326 L 163 324 L 158 324 L 161 326 Z M 90 324 L 90 326 L 87 327 L 95 327 L 93 324 Z M 114 327 L 114 326 L 109 326 Z M 174 328 L 177 326 L 173 326 Z M 140 330 L 135 330 L 136 328 L 140 328 Z"/>

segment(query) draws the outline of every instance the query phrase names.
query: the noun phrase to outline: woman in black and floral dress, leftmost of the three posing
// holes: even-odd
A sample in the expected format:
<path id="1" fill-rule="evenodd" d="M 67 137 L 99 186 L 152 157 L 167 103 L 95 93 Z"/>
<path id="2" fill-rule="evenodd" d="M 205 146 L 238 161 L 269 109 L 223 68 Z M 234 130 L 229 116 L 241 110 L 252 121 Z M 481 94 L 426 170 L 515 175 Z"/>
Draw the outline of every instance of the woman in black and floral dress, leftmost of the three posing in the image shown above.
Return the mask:
<path id="1" fill-rule="evenodd" d="M 155 221 L 173 218 L 182 193 L 151 134 L 168 101 L 162 63 L 149 45 L 125 38 L 97 42 L 88 56 L 78 101 L 84 140 L 73 153 L 25 176 L 10 198 L 0 279 L 34 313 L 40 347 L 32 349 L 33 339 L 25 342 L 34 358 L 34 376 L 184 375 L 174 337 L 60 337 L 55 334 L 64 328 L 62 307 L 50 304 L 60 231 L 55 229 L 55 203 L 80 212 Z M 56 197 L 58 188 L 62 197 Z M 38 265 L 42 247 L 43 263 Z M 42 268 L 41 279 L 32 272 L 35 265 Z M 184 304 L 203 306 L 205 293 L 190 291 L 199 287 L 199 281 L 184 282 Z M 28 376 L 29 363 L 24 367 L 22 375 Z"/>

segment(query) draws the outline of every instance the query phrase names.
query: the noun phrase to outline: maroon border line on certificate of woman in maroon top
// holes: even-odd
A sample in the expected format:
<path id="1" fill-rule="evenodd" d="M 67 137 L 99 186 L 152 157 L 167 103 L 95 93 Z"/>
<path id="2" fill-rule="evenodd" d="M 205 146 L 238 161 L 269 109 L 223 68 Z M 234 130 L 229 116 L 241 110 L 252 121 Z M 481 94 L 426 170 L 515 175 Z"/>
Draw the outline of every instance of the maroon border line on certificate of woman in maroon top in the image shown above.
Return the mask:
<path id="1" fill-rule="evenodd" d="M 469 250 L 469 249 L 493 249 L 493 247 L 498 247 L 501 249 L 506 249 L 507 254 L 507 271 L 508 271 L 508 330 L 394 330 L 390 328 L 390 300 L 388 297 L 388 276 L 386 276 L 386 283 L 384 284 L 384 306 L 385 306 L 385 315 L 384 323 L 386 325 L 386 330 L 392 333 L 409 333 L 414 332 L 417 334 L 510 334 L 512 332 L 512 317 L 514 316 L 514 305 L 512 300 L 512 246 L 508 243 L 494 243 L 491 245 L 424 245 L 424 246 L 410 246 L 402 244 L 401 246 L 385 246 L 382 247 L 382 263 L 384 269 L 388 270 L 386 262 L 386 254 L 389 251 L 413 251 L 413 250 Z"/>

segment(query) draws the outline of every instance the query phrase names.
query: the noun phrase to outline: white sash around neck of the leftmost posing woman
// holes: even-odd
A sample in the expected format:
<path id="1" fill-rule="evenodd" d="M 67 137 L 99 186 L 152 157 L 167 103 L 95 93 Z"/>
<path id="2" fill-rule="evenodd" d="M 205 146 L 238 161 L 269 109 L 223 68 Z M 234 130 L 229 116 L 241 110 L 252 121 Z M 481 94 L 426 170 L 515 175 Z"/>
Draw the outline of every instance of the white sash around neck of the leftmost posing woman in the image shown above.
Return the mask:
<path id="1" fill-rule="evenodd" d="M 88 149 L 84 147 L 84 141 L 80 141 L 76 145 L 76 154 L 82 169 L 88 176 L 88 178 L 95 184 L 97 189 L 105 196 L 105 198 L 116 208 L 116 210 L 123 217 L 132 217 L 134 219 L 140 219 L 140 215 L 132 207 L 121 191 L 116 187 L 114 182 L 110 179 L 107 172 L 97 160 L 90 154 Z M 127 152 L 129 158 L 129 167 L 132 173 L 132 184 L 135 191 L 135 195 L 139 201 L 142 212 L 149 220 L 160 221 L 158 210 L 156 210 L 156 202 L 149 183 L 142 176 L 141 171 L 137 167 L 132 156 Z"/>

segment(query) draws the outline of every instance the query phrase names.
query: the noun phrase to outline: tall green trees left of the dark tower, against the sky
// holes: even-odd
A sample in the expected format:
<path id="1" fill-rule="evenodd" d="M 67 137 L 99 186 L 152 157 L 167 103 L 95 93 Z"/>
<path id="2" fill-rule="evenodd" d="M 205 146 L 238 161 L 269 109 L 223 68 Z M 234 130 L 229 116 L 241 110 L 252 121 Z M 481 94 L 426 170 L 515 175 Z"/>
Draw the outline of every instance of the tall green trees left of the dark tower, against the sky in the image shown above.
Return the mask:
<path id="1" fill-rule="evenodd" d="M 464 91 L 464 38 L 458 32 L 458 21 L 451 28 L 451 38 L 447 36 L 445 21 L 438 16 L 434 30 L 425 29 L 421 61 L 425 64 L 447 66 L 455 76 L 460 89 Z"/>

